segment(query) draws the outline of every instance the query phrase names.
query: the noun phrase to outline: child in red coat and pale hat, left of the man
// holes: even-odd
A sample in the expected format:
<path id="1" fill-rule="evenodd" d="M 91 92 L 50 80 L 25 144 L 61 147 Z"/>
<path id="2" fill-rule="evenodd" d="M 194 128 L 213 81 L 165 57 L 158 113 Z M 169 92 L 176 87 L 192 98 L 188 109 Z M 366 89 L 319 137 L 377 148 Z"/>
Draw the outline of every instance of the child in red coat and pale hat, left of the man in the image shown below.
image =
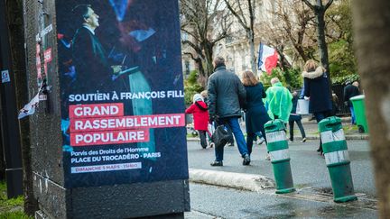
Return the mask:
<path id="1" fill-rule="evenodd" d="M 209 125 L 209 110 L 200 94 L 193 96 L 193 104 L 186 109 L 185 113 L 193 114 L 194 129 L 199 132 L 200 145 L 205 149 L 207 147 L 206 133 Z"/>

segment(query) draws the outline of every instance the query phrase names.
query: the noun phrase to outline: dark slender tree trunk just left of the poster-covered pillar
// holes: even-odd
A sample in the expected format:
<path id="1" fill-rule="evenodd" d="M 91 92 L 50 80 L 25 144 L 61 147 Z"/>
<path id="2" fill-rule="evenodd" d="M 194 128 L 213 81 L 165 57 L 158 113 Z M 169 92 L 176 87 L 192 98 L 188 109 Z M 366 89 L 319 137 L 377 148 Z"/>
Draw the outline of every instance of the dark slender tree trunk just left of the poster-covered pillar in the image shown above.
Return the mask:
<path id="1" fill-rule="evenodd" d="M 12 50 L 16 103 L 21 109 L 29 101 L 24 53 L 23 0 L 5 0 L 5 5 Z M 20 120 L 19 128 L 23 160 L 24 212 L 33 215 L 38 209 L 38 203 L 33 196 L 29 120 Z"/>

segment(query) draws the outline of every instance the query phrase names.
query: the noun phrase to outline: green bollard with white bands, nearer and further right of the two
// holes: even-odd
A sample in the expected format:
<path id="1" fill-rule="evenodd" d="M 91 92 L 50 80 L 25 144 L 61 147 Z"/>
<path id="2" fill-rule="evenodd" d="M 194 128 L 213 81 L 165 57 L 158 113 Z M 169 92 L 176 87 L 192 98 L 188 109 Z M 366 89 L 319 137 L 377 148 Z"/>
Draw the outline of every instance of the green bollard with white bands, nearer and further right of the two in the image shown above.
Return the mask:
<path id="1" fill-rule="evenodd" d="M 335 202 L 357 200 L 349 167 L 347 141 L 342 129 L 341 119 L 336 116 L 323 119 L 319 123 L 322 150 L 330 172 Z"/>

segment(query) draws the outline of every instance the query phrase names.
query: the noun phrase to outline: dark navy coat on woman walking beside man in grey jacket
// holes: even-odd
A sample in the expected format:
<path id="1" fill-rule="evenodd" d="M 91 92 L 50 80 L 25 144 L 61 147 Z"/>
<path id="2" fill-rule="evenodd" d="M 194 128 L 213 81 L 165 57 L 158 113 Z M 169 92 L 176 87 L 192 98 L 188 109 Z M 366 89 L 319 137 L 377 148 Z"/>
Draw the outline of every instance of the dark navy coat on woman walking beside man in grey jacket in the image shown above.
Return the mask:
<path id="1" fill-rule="evenodd" d="M 246 86 L 246 132 L 264 132 L 264 125 L 270 120 L 263 98 L 265 90 L 262 83 L 255 86 Z"/>

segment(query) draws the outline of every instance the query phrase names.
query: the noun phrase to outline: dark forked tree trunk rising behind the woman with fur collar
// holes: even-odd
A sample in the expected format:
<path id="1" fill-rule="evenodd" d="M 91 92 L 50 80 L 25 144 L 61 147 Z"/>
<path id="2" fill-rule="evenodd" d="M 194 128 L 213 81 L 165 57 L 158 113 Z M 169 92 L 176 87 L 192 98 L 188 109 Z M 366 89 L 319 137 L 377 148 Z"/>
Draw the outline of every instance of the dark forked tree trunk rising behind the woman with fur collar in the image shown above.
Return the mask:
<path id="1" fill-rule="evenodd" d="M 328 45 L 325 40 L 325 12 L 328 10 L 330 5 L 333 3 L 333 0 L 328 0 L 326 4 L 322 3 L 322 0 L 315 0 L 315 4 L 311 4 L 309 0 L 302 0 L 311 11 L 314 13 L 317 24 L 317 39 L 320 50 L 320 63 L 327 69 L 328 78 L 330 79 L 330 68 L 329 68 L 329 58 L 328 58 Z"/>

